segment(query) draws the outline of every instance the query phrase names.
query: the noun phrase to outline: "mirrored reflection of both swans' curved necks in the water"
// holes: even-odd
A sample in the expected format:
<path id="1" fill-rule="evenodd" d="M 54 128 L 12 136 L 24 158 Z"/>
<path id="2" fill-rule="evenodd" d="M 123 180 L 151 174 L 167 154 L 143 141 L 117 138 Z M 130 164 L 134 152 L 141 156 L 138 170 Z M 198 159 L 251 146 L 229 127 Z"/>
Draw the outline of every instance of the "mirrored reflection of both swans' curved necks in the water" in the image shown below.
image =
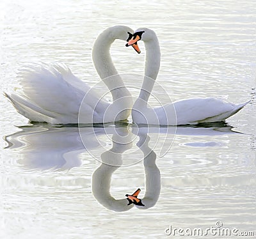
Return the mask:
<path id="1" fill-rule="evenodd" d="M 137 146 L 143 152 L 143 164 L 145 168 L 145 196 L 141 198 L 143 206 L 135 205 L 140 209 L 148 209 L 154 206 L 160 194 L 161 176 L 156 166 L 156 153 L 148 147 L 150 137 L 138 132 L 140 140 Z M 92 175 L 92 192 L 97 201 L 109 210 L 123 212 L 131 209 L 134 204 L 129 204 L 126 198 L 115 199 L 110 194 L 111 177 L 122 166 L 122 154 L 132 148 L 132 133 L 129 128 L 117 128 L 113 135 L 113 146 L 110 150 L 102 153 L 101 164 Z M 125 169 L 125 168 L 123 168 Z"/>

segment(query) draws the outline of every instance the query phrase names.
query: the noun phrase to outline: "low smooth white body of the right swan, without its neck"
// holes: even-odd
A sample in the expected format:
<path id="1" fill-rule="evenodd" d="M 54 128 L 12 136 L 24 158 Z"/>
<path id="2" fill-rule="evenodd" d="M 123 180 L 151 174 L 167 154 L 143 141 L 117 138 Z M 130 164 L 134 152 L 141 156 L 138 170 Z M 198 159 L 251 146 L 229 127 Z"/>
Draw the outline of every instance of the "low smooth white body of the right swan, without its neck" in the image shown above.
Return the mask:
<path id="1" fill-rule="evenodd" d="M 132 121 L 147 125 L 193 125 L 223 121 L 248 103 L 236 105 L 217 98 L 189 98 L 152 108 L 140 101 L 136 100 L 132 107 Z"/>

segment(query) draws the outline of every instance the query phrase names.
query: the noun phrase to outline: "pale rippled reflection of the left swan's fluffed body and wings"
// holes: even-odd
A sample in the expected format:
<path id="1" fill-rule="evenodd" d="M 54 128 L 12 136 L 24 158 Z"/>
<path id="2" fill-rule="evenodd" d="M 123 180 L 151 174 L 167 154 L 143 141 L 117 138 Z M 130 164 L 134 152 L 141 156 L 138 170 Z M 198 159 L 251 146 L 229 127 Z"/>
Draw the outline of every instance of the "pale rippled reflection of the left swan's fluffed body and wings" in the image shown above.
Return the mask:
<path id="1" fill-rule="evenodd" d="M 72 169 L 81 166 L 81 153 L 104 145 L 95 135 L 106 134 L 104 128 L 70 125 L 52 127 L 45 123 L 19 127 L 21 131 L 5 137 L 6 148 L 22 153 L 19 163 L 35 169 Z M 83 134 L 83 142 L 80 134 Z"/>

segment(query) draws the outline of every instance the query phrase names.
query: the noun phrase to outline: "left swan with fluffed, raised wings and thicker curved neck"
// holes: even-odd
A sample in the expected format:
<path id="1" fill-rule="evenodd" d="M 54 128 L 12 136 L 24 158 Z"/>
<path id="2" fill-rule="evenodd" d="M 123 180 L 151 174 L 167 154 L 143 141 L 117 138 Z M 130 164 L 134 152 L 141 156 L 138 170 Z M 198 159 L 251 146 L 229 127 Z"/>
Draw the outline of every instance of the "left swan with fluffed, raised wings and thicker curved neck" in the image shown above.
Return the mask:
<path id="1" fill-rule="evenodd" d="M 24 68 L 20 72 L 22 92 L 4 95 L 20 114 L 31 121 L 78 123 L 80 105 L 82 115 L 79 116 L 79 123 L 107 123 L 127 119 L 131 114 L 132 97 L 109 53 L 116 39 L 127 40 L 127 31 L 133 32 L 126 26 L 108 27 L 95 40 L 92 50 L 95 69 L 108 86 L 113 104 L 102 100 L 95 90 L 63 65 L 32 65 Z"/>

